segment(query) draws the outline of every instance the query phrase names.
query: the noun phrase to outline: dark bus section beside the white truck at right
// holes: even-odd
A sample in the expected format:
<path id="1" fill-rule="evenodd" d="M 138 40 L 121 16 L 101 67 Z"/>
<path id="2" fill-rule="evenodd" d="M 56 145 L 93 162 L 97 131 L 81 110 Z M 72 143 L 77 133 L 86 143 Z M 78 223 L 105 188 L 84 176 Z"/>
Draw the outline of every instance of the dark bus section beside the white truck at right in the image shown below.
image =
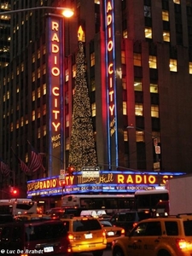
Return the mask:
<path id="1" fill-rule="evenodd" d="M 138 190 L 135 192 L 135 208 L 139 212 L 155 212 L 160 201 L 169 201 L 167 189 Z"/>

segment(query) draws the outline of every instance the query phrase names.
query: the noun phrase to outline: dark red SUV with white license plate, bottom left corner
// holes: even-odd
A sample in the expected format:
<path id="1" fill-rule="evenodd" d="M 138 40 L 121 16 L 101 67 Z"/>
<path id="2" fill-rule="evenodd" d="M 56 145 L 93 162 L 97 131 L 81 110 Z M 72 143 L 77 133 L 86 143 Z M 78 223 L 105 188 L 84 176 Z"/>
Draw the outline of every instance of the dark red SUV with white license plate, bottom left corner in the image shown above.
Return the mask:
<path id="1" fill-rule="evenodd" d="M 0 251 L 17 256 L 72 255 L 67 230 L 60 220 L 0 224 Z"/>

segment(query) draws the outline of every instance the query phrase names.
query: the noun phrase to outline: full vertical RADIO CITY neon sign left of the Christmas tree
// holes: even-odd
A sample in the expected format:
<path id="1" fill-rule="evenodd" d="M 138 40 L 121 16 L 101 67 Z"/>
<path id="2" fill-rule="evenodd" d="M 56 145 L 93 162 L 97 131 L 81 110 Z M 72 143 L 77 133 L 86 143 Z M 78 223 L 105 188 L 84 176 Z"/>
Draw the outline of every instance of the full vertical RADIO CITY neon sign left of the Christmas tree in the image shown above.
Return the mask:
<path id="1" fill-rule="evenodd" d="M 63 168 L 63 20 L 48 16 L 49 176 Z M 47 42 L 46 41 L 46 42 Z"/>

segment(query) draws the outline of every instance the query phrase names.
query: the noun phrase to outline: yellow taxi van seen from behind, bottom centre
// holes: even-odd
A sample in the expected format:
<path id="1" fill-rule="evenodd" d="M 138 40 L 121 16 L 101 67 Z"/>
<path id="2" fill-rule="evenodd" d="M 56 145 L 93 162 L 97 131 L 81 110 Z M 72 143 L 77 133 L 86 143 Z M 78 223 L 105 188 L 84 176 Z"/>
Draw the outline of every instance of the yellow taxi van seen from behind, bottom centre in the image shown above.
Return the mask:
<path id="1" fill-rule="evenodd" d="M 92 253 L 102 256 L 107 247 L 106 232 L 97 218 L 72 217 L 61 218 L 68 231 L 73 253 Z"/>

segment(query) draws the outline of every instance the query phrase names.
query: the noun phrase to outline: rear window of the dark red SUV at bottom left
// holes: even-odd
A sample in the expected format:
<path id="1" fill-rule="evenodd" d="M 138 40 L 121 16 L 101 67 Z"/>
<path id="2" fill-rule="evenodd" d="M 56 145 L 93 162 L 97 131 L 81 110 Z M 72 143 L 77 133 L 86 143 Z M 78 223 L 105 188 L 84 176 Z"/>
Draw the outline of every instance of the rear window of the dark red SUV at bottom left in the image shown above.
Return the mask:
<path id="1" fill-rule="evenodd" d="M 37 241 L 55 239 L 55 237 L 66 236 L 67 230 L 62 223 L 57 224 L 39 224 L 26 226 L 26 240 Z"/>

